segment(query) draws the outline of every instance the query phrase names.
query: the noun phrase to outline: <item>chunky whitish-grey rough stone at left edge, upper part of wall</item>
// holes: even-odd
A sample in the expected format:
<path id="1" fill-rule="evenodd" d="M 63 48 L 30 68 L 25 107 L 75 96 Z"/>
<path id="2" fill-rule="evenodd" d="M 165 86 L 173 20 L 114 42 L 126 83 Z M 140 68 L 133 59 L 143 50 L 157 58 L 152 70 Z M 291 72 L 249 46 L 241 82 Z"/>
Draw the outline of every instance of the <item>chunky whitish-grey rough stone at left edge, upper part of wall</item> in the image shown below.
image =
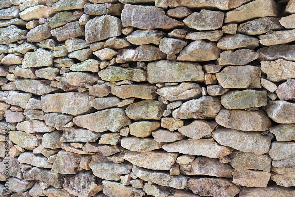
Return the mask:
<path id="1" fill-rule="evenodd" d="M 0 28 L 0 45 L 9 45 L 18 40 L 25 40 L 27 33 L 27 30 L 21 30 L 15 25 Z"/>

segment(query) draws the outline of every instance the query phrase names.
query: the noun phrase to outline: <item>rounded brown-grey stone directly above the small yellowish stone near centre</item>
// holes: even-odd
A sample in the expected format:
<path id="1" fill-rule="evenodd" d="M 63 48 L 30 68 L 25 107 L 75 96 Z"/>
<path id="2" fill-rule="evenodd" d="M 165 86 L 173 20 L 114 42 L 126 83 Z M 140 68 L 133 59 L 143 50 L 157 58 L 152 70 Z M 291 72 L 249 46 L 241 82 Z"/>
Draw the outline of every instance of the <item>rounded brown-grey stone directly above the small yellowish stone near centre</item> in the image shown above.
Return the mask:
<path id="1" fill-rule="evenodd" d="M 166 109 L 166 104 L 157 100 L 142 100 L 134 102 L 125 110 L 126 115 L 135 120 L 160 120 L 163 112 Z"/>

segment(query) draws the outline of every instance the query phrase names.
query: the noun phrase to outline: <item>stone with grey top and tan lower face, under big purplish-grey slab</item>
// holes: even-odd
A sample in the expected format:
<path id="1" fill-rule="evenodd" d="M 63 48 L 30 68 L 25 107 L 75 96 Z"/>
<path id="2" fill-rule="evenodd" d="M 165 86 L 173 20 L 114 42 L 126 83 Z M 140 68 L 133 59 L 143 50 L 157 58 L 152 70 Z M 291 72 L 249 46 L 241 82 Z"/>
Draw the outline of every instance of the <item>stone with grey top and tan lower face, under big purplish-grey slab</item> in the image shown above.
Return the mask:
<path id="1" fill-rule="evenodd" d="M 163 34 L 164 32 L 158 30 L 136 30 L 129 34 L 126 39 L 133 45 L 158 45 L 160 40 L 163 38 Z"/>

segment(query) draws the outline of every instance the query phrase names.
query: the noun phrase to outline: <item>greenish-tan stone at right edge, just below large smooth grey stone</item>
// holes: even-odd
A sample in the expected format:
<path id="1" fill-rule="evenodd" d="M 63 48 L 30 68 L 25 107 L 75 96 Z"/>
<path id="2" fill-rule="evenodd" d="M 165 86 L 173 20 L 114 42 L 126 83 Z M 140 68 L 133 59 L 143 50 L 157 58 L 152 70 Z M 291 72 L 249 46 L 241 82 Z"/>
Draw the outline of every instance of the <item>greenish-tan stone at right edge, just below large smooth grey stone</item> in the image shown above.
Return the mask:
<path id="1" fill-rule="evenodd" d="M 279 124 L 269 128 L 269 131 L 276 136 L 277 141 L 295 140 L 295 124 Z"/>

